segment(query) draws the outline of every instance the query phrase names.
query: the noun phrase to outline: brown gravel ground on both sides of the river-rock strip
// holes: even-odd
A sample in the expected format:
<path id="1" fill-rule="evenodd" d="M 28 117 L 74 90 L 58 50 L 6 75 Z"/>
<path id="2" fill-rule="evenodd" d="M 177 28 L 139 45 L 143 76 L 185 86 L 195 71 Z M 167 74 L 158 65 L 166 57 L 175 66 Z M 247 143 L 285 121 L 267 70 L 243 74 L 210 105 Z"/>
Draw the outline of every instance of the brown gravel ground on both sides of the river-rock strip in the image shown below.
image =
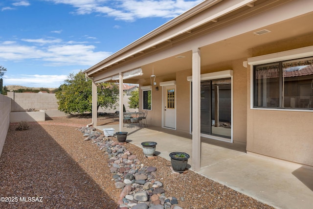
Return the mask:
<path id="1" fill-rule="evenodd" d="M 13 202 L 1 199 L 0 208 L 116 209 L 121 189 L 114 186 L 107 155 L 77 130 L 90 122 L 72 116 L 30 124 L 25 131 L 10 125 L 0 158 L 0 196 Z M 112 115 L 98 118 L 101 125 L 114 123 L 118 118 Z M 169 161 L 149 160 L 131 143 L 126 147 L 144 165 L 157 168 L 166 196 L 178 198 L 183 209 L 272 209 L 191 170 L 175 174 Z"/>

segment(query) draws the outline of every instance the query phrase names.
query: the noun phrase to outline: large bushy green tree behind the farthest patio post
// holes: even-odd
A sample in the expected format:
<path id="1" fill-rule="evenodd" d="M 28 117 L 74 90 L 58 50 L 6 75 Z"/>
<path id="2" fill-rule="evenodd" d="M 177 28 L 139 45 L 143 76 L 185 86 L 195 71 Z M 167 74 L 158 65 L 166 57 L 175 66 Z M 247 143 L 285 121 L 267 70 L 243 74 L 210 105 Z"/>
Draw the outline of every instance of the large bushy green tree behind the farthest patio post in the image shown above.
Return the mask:
<path id="1" fill-rule="evenodd" d="M 84 113 L 92 111 L 92 83 L 86 81 L 85 74 L 69 74 L 65 83 L 55 93 L 58 100 L 58 109 L 64 113 Z M 112 109 L 118 100 L 118 86 L 111 83 L 97 84 L 97 109 L 103 107 Z"/>

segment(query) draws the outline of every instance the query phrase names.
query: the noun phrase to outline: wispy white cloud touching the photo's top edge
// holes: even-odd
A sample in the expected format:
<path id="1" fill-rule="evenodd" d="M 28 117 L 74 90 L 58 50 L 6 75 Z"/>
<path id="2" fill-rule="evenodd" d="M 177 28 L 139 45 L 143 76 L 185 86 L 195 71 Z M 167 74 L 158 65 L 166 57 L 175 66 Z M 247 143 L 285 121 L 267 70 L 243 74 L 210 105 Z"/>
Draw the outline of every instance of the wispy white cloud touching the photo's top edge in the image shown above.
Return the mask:
<path id="1" fill-rule="evenodd" d="M 48 0 L 76 8 L 80 15 L 100 13 L 116 20 L 135 21 L 140 18 L 174 18 L 202 0 Z"/>

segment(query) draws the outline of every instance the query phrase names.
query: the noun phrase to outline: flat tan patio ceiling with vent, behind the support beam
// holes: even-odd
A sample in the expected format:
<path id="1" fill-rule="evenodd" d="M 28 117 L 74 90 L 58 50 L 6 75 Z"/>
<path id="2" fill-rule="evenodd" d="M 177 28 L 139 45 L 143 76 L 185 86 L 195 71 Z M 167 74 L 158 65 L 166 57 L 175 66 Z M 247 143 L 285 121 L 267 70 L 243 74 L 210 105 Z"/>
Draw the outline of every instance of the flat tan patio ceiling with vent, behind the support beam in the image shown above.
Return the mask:
<path id="1" fill-rule="evenodd" d="M 247 33 L 201 47 L 201 67 L 217 65 L 225 61 L 236 60 L 251 56 L 250 49 L 259 46 L 270 45 L 281 40 L 290 40 L 296 36 L 312 34 L 313 28 L 310 27 L 313 20 L 313 13 L 303 15 L 283 23 L 268 25 Z M 257 35 L 256 31 L 267 29 L 270 32 Z M 140 79 L 150 79 L 152 68 L 156 76 L 169 74 L 192 68 L 192 52 L 176 54 L 166 59 L 162 59 L 144 66 L 141 66 L 143 75 Z M 133 80 L 135 81 L 135 80 Z"/>

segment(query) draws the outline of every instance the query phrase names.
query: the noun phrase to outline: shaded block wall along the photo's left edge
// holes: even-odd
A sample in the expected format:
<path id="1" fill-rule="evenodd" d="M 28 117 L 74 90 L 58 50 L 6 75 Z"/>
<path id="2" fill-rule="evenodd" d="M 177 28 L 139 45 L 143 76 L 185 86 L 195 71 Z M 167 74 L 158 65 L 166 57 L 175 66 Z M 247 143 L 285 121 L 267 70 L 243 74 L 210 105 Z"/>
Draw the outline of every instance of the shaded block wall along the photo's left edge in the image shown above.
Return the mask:
<path id="1" fill-rule="evenodd" d="M 10 124 L 11 98 L 0 94 L 0 156 Z"/>

